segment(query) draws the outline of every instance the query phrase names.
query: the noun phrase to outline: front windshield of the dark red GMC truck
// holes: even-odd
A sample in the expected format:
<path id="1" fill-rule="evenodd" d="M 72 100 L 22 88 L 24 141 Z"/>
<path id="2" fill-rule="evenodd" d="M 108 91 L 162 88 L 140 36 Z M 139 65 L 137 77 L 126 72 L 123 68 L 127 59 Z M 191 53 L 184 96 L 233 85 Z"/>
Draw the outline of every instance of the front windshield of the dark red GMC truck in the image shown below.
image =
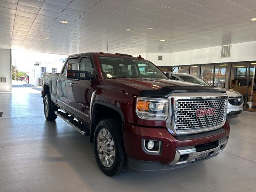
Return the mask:
<path id="1" fill-rule="evenodd" d="M 134 58 L 99 57 L 104 78 L 168 79 L 152 63 Z"/>

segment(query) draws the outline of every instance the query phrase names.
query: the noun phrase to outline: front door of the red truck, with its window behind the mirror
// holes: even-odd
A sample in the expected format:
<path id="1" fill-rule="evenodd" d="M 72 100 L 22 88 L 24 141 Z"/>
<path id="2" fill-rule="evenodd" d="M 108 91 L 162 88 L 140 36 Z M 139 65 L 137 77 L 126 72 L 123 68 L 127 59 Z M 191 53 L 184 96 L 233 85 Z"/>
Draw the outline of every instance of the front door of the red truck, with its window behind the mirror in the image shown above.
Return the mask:
<path id="1" fill-rule="evenodd" d="M 82 56 L 79 70 L 94 73 L 92 58 Z M 70 112 L 86 123 L 90 123 L 90 101 L 94 80 L 71 80 L 69 89 Z"/>

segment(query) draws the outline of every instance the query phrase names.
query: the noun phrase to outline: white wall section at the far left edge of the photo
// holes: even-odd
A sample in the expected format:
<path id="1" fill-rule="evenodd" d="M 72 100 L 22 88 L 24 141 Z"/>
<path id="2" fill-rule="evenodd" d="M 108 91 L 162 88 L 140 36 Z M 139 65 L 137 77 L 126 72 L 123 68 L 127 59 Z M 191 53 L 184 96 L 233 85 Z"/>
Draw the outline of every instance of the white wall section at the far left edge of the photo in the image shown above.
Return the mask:
<path id="1" fill-rule="evenodd" d="M 0 49 L 0 77 L 6 77 L 6 83 L 0 82 L 0 92 L 12 91 L 11 57 L 9 49 Z"/>

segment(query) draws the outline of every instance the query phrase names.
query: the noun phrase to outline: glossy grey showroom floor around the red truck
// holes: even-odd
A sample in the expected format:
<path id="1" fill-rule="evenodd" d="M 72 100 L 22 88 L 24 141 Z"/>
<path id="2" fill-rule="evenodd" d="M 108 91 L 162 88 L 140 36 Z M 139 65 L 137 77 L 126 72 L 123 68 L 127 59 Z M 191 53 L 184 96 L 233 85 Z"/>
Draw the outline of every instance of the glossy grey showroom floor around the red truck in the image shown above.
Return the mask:
<path id="1" fill-rule="evenodd" d="M 88 138 L 60 118 L 45 120 L 40 88 L 1 93 L 0 112 L 1 192 L 256 191 L 256 113 L 229 120 L 230 140 L 215 158 L 162 174 L 108 177 Z"/>

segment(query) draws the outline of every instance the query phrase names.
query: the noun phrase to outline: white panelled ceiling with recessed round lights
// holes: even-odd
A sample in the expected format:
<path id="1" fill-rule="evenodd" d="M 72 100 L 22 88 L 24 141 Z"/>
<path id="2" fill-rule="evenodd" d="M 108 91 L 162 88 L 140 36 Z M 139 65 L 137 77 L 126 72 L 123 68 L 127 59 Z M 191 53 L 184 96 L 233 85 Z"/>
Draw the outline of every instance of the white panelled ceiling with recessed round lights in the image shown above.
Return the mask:
<path id="1" fill-rule="evenodd" d="M 108 52 L 178 52 L 255 41 L 253 17 L 256 0 L 0 0 L 0 48 L 106 52 L 109 31 Z"/>

